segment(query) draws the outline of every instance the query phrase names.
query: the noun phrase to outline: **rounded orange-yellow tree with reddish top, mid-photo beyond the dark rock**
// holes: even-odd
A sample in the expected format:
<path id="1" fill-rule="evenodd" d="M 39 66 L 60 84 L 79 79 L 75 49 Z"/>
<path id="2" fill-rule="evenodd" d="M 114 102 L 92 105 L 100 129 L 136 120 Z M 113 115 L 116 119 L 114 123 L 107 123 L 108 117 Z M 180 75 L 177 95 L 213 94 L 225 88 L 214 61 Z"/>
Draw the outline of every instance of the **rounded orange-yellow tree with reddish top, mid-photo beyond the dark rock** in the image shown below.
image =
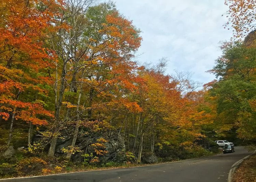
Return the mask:
<path id="1" fill-rule="evenodd" d="M 187 121 L 184 114 L 187 109 L 184 105 L 186 102 L 175 89 L 177 82 L 158 70 L 139 70 L 138 75 L 142 81 L 138 83 L 138 91 L 131 96 L 132 101 L 136 101 L 142 109 L 134 115 L 135 128 L 132 133 L 135 136 L 133 152 L 138 152 L 138 162 L 141 162 L 143 149 L 148 150 L 146 146 L 154 153 L 155 142 L 165 135 L 163 131 L 173 126 L 183 126 Z M 143 143 L 146 143 L 144 147 Z"/>

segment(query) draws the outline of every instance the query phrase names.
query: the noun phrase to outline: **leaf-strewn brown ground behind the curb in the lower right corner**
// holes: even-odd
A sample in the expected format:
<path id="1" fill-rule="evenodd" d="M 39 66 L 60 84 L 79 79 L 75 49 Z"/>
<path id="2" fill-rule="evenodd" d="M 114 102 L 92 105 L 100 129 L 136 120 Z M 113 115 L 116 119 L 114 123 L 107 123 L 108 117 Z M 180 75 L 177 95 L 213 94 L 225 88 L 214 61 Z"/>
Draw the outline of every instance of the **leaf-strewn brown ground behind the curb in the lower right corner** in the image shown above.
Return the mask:
<path id="1" fill-rule="evenodd" d="M 232 182 L 256 182 L 256 155 L 243 161 L 236 170 Z"/>

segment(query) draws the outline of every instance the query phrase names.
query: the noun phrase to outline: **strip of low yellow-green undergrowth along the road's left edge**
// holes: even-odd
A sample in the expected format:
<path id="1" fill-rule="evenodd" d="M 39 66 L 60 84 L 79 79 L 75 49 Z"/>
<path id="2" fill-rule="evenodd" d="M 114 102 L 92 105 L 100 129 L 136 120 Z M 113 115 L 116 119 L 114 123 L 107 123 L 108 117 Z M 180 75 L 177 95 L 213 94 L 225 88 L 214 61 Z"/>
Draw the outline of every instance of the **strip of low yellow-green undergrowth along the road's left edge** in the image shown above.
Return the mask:
<path id="1" fill-rule="evenodd" d="M 218 150 L 220 153 L 221 150 Z M 181 161 L 190 158 L 197 158 L 203 156 L 214 155 L 216 153 L 207 152 L 201 150 L 200 153 L 195 153 L 189 158 L 158 158 L 158 162 L 154 164 L 162 164 L 168 162 Z M 136 166 L 147 166 L 152 164 L 145 163 L 131 163 L 131 162 L 107 162 L 105 164 L 85 164 L 81 162 L 68 162 L 59 158 L 49 159 L 48 157 L 26 157 L 25 159 L 19 159 L 16 155 L 13 158 L 1 160 L 0 175 L 1 178 L 13 178 L 13 177 L 28 177 L 28 176 L 41 176 L 41 175 L 52 175 L 67 172 L 79 172 L 79 171 L 91 171 L 101 169 L 116 169 L 116 168 L 127 168 Z"/>

